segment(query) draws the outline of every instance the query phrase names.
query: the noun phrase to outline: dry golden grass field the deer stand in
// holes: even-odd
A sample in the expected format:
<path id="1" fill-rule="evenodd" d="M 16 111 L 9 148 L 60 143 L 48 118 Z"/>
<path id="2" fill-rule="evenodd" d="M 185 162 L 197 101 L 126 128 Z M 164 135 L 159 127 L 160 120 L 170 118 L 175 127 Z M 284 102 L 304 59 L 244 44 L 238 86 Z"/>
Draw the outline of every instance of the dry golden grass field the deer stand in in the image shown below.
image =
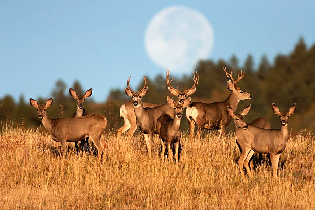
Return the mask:
<path id="1" fill-rule="evenodd" d="M 178 168 L 161 163 L 158 136 L 151 159 L 142 136 L 104 136 L 103 164 L 91 153 L 58 155 L 59 143 L 43 129 L 2 125 L 1 209 L 314 209 L 314 135 L 289 137 L 278 178 L 255 159 L 254 178 L 242 183 L 234 134 L 201 141 L 182 138 Z"/>

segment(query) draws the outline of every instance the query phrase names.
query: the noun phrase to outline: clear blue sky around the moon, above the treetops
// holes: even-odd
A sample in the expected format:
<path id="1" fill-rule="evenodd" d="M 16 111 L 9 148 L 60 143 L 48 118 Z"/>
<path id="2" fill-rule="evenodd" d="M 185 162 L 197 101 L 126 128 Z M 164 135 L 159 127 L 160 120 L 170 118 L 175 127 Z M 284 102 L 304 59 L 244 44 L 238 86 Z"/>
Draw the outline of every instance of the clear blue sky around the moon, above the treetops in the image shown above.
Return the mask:
<path id="1" fill-rule="evenodd" d="M 104 101 L 110 88 L 123 89 L 128 76 L 165 74 L 144 46 L 150 19 L 182 5 L 201 12 L 214 31 L 209 59 L 255 63 L 267 54 L 289 53 L 299 37 L 315 43 L 315 1 L 1 1 L 0 97 L 51 97 L 58 78 L 79 80 Z M 193 70 L 193 69 L 191 69 Z"/>

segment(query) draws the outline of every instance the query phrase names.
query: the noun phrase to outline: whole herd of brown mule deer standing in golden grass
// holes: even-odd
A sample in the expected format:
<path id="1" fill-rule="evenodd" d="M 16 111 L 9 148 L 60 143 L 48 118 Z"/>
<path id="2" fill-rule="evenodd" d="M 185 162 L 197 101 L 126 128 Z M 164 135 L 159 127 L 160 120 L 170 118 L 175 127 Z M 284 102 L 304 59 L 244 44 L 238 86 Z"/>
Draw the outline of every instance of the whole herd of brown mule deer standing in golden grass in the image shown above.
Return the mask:
<path id="1" fill-rule="evenodd" d="M 175 89 L 171 85 L 173 79 L 169 80 L 169 71 L 166 71 L 166 83 L 172 96 L 177 96 L 174 100 L 167 96 L 166 104 L 151 104 L 143 102 L 143 97 L 148 92 L 147 80 L 144 76 L 144 86 L 139 91 L 133 91 L 130 88 L 130 78 L 127 79 L 127 88 L 125 94 L 131 97 L 120 107 L 120 117 L 124 120 L 124 126 L 118 129 L 117 137 L 128 131 L 132 136 L 138 128 L 144 135 L 148 155 L 152 155 L 152 142 L 154 134 L 158 134 L 162 146 L 161 159 L 164 161 L 165 150 L 168 151 L 168 158 L 173 159 L 171 145 L 175 148 L 175 161 L 178 165 L 179 148 L 181 144 L 181 118 L 186 109 L 186 118 L 190 127 L 190 138 L 194 138 L 194 129 L 197 125 L 197 139 L 200 140 L 203 129 L 219 130 L 220 137 L 225 141 L 226 127 L 233 118 L 235 127 L 235 140 L 240 150 L 238 161 L 241 178 L 246 182 L 243 168 L 245 167 L 248 176 L 253 177 L 253 154 L 269 154 L 272 164 L 273 176 L 277 176 L 277 168 L 280 155 L 286 147 L 288 139 L 288 118 L 294 114 L 296 104 L 288 112 L 280 112 L 279 108 L 272 104 L 274 114 L 279 115 L 281 119 L 281 129 L 272 129 L 271 124 L 265 118 L 258 117 L 251 123 L 246 123 L 243 116 L 250 111 L 251 105 L 244 108 L 239 114 L 234 113 L 240 100 L 251 99 L 252 95 L 243 91 L 238 82 L 244 78 L 243 71 L 237 72 L 238 78 L 234 80 L 232 73 L 223 68 L 228 77 L 227 87 L 231 91 L 226 100 L 214 103 L 191 103 L 191 95 L 197 90 L 199 75 L 193 73 L 194 84 L 191 88 L 185 88 L 184 91 Z M 47 108 L 53 104 L 50 98 L 45 104 L 40 105 L 36 100 L 30 98 L 30 104 L 38 111 L 39 118 L 43 126 L 49 131 L 54 141 L 61 143 L 63 154 L 66 151 L 66 142 L 75 142 L 75 148 L 92 141 L 98 150 L 98 156 L 101 160 L 104 153 L 107 155 L 107 144 L 101 139 L 101 135 L 106 128 L 107 120 L 102 115 L 90 114 L 84 109 L 84 101 L 92 94 L 92 88 L 84 95 L 77 95 L 73 89 L 69 89 L 70 95 L 76 100 L 77 109 L 72 118 L 51 119 L 46 113 Z"/>

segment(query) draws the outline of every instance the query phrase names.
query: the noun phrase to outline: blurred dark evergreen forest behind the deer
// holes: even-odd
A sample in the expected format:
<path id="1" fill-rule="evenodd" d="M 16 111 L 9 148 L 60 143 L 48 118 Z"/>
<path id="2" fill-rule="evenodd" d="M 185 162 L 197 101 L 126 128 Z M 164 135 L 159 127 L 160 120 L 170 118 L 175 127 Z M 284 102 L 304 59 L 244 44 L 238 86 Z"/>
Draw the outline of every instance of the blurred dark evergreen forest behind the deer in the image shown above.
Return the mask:
<path id="1" fill-rule="evenodd" d="M 275 103 L 281 111 L 288 111 L 293 103 L 297 104 L 294 115 L 289 119 L 289 129 L 293 133 L 301 129 L 315 129 L 315 44 L 309 48 L 306 46 L 303 38 L 300 38 L 295 44 L 294 49 L 288 55 L 278 54 L 273 62 L 268 61 L 267 56 L 261 57 L 256 65 L 253 57 L 249 54 L 243 65 L 240 65 L 236 55 L 232 55 L 229 60 L 220 59 L 200 60 L 195 67 L 199 74 L 199 84 L 197 91 L 191 96 L 192 101 L 216 102 L 225 100 L 230 91 L 226 88 L 226 75 L 223 67 L 233 73 L 242 69 L 245 77 L 239 82 L 242 90 L 250 93 L 253 97 L 251 100 L 240 101 L 238 110 L 241 110 L 251 103 L 251 111 L 246 116 L 246 121 L 250 122 L 257 117 L 267 118 L 273 128 L 279 128 L 280 122 L 276 115 L 273 114 L 271 104 Z M 257 66 L 257 67 L 255 67 Z M 166 69 L 165 69 L 166 71 Z M 193 71 L 189 75 L 182 77 L 173 77 L 170 69 L 170 78 L 173 78 L 172 85 L 184 90 L 193 85 Z M 126 75 L 126 81 L 129 75 Z M 237 77 L 237 76 L 236 76 Z M 132 87 L 142 88 L 144 82 L 136 85 L 130 82 Z M 166 103 L 166 96 L 170 95 L 167 90 L 165 73 L 161 73 L 155 78 L 147 77 L 147 86 L 149 88 L 143 101 L 150 103 Z M 77 94 L 83 94 L 91 87 L 85 87 L 83 90 L 79 81 L 75 81 L 72 86 L 59 79 L 55 83 L 55 88 L 51 96 L 47 98 L 36 98 L 40 103 L 45 99 L 54 98 L 54 104 L 48 109 L 51 118 L 71 117 L 76 110 L 75 100 L 69 95 L 69 88 L 73 88 Z M 93 87 L 92 87 L 93 88 Z M 136 88 L 134 88 L 136 89 Z M 93 96 L 93 93 L 92 93 Z M 119 116 L 119 108 L 125 101 L 129 100 L 124 93 L 124 87 L 111 89 L 106 101 L 97 103 L 93 98 L 86 99 L 84 107 L 90 113 L 103 114 L 108 118 L 109 128 L 117 130 L 122 125 Z M 6 122 L 13 120 L 17 124 L 25 126 L 38 126 L 41 121 L 38 119 L 36 109 L 30 106 L 28 98 L 23 95 L 18 101 L 12 96 L 5 95 L 0 98 L 0 121 Z M 188 128 L 187 119 L 183 117 L 182 128 Z M 230 124 L 233 128 L 233 122 Z"/>

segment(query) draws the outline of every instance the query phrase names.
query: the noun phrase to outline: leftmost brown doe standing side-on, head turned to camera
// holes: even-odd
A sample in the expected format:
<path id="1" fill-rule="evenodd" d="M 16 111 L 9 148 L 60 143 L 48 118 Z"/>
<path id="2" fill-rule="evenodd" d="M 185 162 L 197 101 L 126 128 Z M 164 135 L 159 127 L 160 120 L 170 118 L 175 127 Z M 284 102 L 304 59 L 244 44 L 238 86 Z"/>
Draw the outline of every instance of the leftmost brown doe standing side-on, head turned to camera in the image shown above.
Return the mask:
<path id="1" fill-rule="evenodd" d="M 39 104 L 30 98 L 32 107 L 37 109 L 38 117 L 43 126 L 49 131 L 54 141 L 60 142 L 62 153 L 66 152 L 66 142 L 78 142 L 89 137 L 98 150 L 99 160 L 102 160 L 104 152 L 107 152 L 107 144 L 101 141 L 101 135 L 107 125 L 107 120 L 102 115 L 90 114 L 76 118 L 51 119 L 46 110 L 53 104 L 53 98 L 45 104 Z"/>

